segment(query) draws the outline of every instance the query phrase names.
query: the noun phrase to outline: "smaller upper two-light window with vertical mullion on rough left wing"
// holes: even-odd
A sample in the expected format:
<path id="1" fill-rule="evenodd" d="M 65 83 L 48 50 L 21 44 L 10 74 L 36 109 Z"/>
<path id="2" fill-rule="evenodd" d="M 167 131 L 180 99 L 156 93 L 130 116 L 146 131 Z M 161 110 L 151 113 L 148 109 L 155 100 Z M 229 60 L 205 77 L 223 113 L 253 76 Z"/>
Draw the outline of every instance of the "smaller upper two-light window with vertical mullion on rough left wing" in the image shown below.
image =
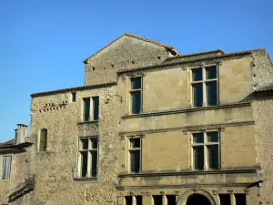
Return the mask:
<path id="1" fill-rule="evenodd" d="M 86 98 L 83 98 L 83 102 L 84 102 L 84 105 L 83 105 L 83 108 L 84 108 L 83 119 L 84 119 L 84 121 L 98 120 L 99 97 L 86 97 Z M 91 112 L 90 112 L 90 110 L 91 110 Z"/>

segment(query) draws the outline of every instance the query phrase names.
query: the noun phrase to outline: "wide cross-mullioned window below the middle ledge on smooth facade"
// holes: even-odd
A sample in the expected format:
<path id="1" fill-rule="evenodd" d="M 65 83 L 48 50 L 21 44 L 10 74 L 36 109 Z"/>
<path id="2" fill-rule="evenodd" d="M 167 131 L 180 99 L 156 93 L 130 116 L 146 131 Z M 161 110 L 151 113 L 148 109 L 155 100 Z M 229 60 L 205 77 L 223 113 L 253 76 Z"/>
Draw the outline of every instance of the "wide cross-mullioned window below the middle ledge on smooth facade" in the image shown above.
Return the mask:
<path id="1" fill-rule="evenodd" d="M 192 133 L 193 169 L 219 169 L 219 137 L 217 131 Z"/>

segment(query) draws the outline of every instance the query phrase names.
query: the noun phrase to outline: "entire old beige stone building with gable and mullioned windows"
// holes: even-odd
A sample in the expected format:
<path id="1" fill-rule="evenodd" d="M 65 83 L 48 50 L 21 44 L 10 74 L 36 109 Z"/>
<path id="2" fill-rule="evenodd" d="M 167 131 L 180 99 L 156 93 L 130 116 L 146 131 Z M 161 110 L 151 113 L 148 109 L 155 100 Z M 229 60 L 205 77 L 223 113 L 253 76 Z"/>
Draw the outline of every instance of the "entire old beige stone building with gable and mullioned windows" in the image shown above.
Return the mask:
<path id="1" fill-rule="evenodd" d="M 3 204 L 273 203 L 265 50 L 181 55 L 125 34 L 84 63 L 85 86 L 32 94 L 35 187 Z"/>

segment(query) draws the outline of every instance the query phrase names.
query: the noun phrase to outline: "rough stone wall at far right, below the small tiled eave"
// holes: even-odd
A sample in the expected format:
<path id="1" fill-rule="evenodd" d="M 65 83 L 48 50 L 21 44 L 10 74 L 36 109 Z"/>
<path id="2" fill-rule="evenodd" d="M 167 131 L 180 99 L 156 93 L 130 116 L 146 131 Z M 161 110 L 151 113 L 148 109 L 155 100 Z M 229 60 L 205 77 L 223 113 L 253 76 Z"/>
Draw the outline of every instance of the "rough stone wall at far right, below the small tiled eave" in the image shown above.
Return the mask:
<path id="1" fill-rule="evenodd" d="M 258 97 L 253 102 L 256 121 L 257 160 L 264 182 L 260 189 L 262 204 L 273 204 L 273 97 Z"/>

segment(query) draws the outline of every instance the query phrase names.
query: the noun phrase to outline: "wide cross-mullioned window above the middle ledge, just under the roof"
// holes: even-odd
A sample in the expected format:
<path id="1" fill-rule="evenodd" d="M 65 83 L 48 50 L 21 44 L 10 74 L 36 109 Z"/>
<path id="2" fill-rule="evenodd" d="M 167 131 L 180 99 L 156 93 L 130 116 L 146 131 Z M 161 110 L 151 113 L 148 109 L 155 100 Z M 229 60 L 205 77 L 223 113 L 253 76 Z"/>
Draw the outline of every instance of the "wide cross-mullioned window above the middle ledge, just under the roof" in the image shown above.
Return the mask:
<path id="1" fill-rule="evenodd" d="M 193 108 L 217 106 L 217 66 L 191 68 Z"/>

